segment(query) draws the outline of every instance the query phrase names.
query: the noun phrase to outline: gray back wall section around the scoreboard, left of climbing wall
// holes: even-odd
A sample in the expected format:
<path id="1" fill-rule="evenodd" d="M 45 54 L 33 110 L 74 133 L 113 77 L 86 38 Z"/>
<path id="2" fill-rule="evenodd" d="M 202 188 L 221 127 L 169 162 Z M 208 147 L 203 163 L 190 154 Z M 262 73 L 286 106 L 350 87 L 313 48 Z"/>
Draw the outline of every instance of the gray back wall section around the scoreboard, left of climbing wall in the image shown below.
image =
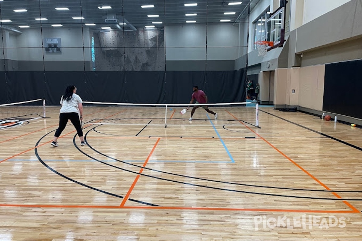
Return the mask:
<path id="1" fill-rule="evenodd" d="M 22 29 L 22 34 L 2 30 L 5 70 L 90 70 L 89 29 L 80 27 Z M 84 36 L 84 37 L 83 37 Z M 88 37 L 87 37 L 88 36 Z M 61 38 L 62 53 L 43 52 L 42 40 Z M 84 46 L 84 48 L 83 48 Z M 1 51 L 2 52 L 2 51 Z"/>

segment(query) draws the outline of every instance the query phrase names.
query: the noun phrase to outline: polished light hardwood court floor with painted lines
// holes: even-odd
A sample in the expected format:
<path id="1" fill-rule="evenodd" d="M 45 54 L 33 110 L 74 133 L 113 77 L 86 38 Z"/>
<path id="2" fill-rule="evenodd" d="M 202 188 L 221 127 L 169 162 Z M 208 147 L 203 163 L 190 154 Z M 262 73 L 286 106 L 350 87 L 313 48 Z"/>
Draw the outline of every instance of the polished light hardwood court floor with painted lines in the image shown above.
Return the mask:
<path id="1" fill-rule="evenodd" d="M 52 147 L 46 111 L 0 129 L 1 241 L 362 240 L 358 127 L 260 107 L 261 128 L 85 122 L 85 146 L 69 122 Z"/>

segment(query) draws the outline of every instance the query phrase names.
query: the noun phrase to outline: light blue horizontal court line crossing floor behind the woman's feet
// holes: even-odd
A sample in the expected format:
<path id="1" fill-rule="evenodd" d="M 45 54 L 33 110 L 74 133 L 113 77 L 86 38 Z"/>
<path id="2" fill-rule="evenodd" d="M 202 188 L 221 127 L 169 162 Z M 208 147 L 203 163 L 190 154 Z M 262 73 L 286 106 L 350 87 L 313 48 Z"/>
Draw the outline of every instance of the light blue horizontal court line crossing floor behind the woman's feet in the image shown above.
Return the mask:
<path id="1" fill-rule="evenodd" d="M 1 161 L 1 160 L 0 160 Z M 37 162 L 38 159 L 9 159 L 8 161 L 18 161 L 18 162 Z M 96 160 L 43 160 L 44 162 L 97 162 Z M 101 160 L 102 162 L 118 162 L 116 160 Z M 144 160 L 123 160 L 123 162 L 142 162 Z M 149 160 L 149 163 L 160 163 L 160 162 L 185 162 L 185 163 L 231 163 L 230 161 L 201 161 L 201 160 Z"/>

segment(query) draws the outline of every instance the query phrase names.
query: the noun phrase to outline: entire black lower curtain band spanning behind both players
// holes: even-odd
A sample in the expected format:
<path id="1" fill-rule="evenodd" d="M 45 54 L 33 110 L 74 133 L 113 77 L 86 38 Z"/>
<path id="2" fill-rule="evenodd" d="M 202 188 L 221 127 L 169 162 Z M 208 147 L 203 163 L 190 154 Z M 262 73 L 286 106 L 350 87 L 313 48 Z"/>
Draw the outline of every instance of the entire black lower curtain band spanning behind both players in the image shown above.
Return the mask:
<path id="1" fill-rule="evenodd" d="M 59 106 L 68 85 L 92 102 L 187 104 L 194 85 L 206 92 L 209 103 L 245 101 L 243 70 L 12 71 L 0 78 L 2 103 L 45 98 L 48 106 Z"/>

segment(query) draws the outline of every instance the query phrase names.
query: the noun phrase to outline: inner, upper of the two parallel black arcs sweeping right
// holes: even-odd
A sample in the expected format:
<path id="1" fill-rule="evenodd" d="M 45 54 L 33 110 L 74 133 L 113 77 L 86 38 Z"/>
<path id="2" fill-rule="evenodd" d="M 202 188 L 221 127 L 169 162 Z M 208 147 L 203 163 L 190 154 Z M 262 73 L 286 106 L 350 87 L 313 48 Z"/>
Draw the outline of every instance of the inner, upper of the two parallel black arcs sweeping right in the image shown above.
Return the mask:
<path id="1" fill-rule="evenodd" d="M 94 128 L 97 128 L 96 127 L 93 127 L 92 129 Z M 87 135 L 88 133 L 92 130 L 88 130 L 88 132 L 84 135 L 84 139 L 86 140 L 87 139 Z M 340 192 L 340 193 L 362 193 L 362 191 L 344 191 L 344 190 L 313 190 L 313 189 L 300 189 L 300 188 L 281 188 L 281 187 L 274 187 L 274 186 L 260 186 L 260 185 L 252 185 L 252 184 L 243 184 L 243 183 L 235 183 L 235 182 L 225 182 L 225 181 L 218 181 L 218 180 L 210 180 L 210 179 L 206 179 L 206 178 L 200 178 L 200 177 L 192 177 L 192 176 L 185 176 L 185 175 L 181 175 L 181 174 L 176 174 L 176 173 L 171 173 L 171 172 L 165 172 L 165 171 L 160 171 L 160 170 L 157 170 L 157 169 L 152 169 L 152 168 L 148 168 L 148 167 L 143 167 L 143 166 L 139 166 L 139 165 L 136 165 L 136 164 L 133 164 L 133 163 L 129 163 L 129 162 L 125 162 L 125 161 L 121 161 L 121 160 L 118 160 L 118 159 L 115 159 L 111 156 L 108 156 L 108 155 L 105 155 L 104 153 L 94 149 L 92 146 L 89 145 L 89 143 L 86 141 L 87 143 L 87 146 L 92 149 L 93 151 L 97 152 L 98 154 L 102 155 L 102 156 L 105 156 L 109 159 L 112 159 L 112 160 L 115 160 L 117 162 L 121 162 L 121 163 L 125 163 L 127 165 L 131 165 L 131 166 L 134 166 L 134 167 L 138 167 L 138 168 L 143 168 L 143 169 L 147 169 L 147 170 L 150 170 L 150 171 L 155 171 L 155 172 L 160 172 L 160 173 L 164 173 L 164 174 L 169 174 L 169 175 L 173 175 L 173 176 L 179 176 L 179 177 L 186 177 L 186 178 L 192 178 L 192 179 L 195 179 L 195 180 L 203 180 L 203 181 L 210 181 L 210 182 L 218 182 L 218 183 L 224 183 L 224 184 L 232 184 L 232 185 L 239 185 L 239 186 L 248 186 L 248 187 L 256 187 L 256 188 L 270 188 L 270 189 L 281 189 L 281 190 L 294 190 L 294 191 L 319 191 L 319 192 Z M 101 163 L 104 163 L 100 160 L 97 160 L 97 159 L 94 159 L 92 156 L 89 156 L 88 154 L 86 154 L 85 152 L 81 151 L 85 156 L 88 156 L 89 158 L 92 158 L 93 160 L 96 160 L 98 162 L 101 162 Z M 110 165 L 108 163 L 104 163 L 106 165 Z M 110 166 L 113 166 L 113 165 L 110 165 Z M 118 167 L 115 167 L 115 168 L 118 168 Z M 118 169 L 122 169 L 122 168 L 118 168 Z M 125 171 L 129 171 L 127 169 L 122 169 L 122 170 L 125 170 Z M 130 171 L 131 172 L 131 171 Z M 138 173 L 139 174 L 139 173 Z M 143 175 L 143 174 L 141 174 Z M 147 175 L 144 175 L 144 176 L 147 176 Z M 150 177 L 153 177 L 153 176 L 150 176 Z M 157 177 L 154 177 L 154 178 L 157 178 Z M 172 180 L 169 180 L 169 181 L 172 181 Z M 191 184 L 190 184 L 191 185 Z M 333 199 L 333 200 L 341 200 L 340 198 L 336 198 L 336 199 Z M 351 200 L 351 199 L 348 199 L 348 200 Z M 359 201 L 362 199 L 356 199 L 356 200 L 353 200 L 353 201 Z"/>

